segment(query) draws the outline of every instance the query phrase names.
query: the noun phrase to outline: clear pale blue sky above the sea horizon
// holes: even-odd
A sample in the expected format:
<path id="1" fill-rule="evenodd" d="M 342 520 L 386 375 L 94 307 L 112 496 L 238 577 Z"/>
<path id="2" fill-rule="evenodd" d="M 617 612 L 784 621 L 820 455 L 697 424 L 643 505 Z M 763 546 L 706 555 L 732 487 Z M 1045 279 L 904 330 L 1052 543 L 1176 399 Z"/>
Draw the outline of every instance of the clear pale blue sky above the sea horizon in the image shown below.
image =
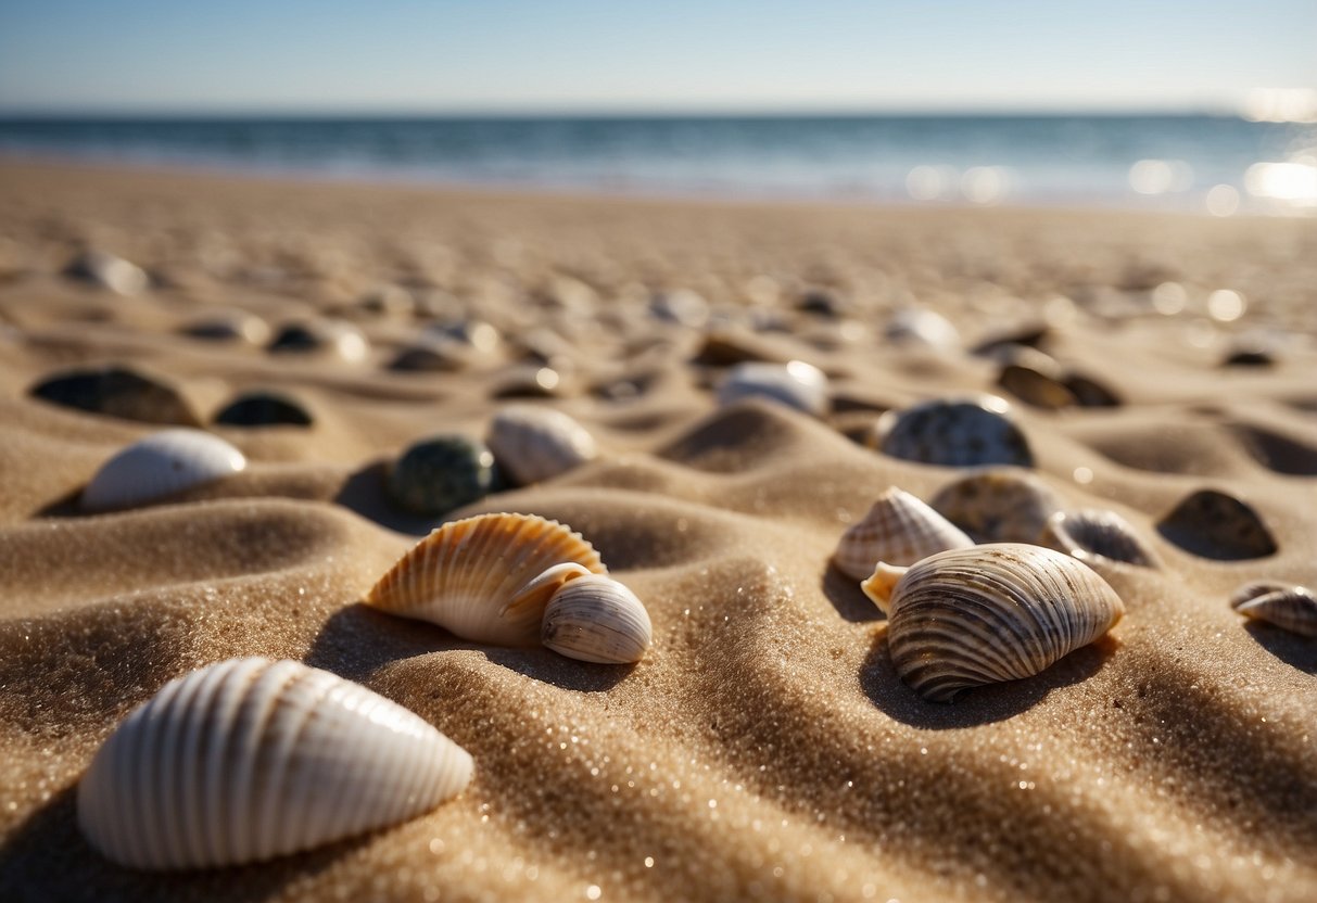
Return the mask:
<path id="1" fill-rule="evenodd" d="M 1222 109 L 1317 0 L 0 0 L 0 112 Z"/>

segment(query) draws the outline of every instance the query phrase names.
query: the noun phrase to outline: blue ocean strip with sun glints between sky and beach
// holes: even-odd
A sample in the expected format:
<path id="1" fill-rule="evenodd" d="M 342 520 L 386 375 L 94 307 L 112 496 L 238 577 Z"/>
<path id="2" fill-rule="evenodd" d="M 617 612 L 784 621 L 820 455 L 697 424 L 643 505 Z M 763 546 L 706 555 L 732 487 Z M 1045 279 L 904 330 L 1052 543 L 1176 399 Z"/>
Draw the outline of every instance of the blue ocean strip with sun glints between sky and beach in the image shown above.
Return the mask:
<path id="1" fill-rule="evenodd" d="M 1317 125 L 1234 116 L 0 118 L 0 154 L 535 190 L 1317 212 Z"/>

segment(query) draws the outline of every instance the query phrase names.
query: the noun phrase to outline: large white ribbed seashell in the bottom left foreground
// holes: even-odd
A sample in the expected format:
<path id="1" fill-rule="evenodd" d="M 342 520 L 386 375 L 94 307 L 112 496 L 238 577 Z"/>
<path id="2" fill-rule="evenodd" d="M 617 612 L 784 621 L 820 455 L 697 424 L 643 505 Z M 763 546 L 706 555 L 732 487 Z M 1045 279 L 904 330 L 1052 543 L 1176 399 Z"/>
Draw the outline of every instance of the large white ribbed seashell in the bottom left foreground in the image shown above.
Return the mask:
<path id="1" fill-rule="evenodd" d="M 171 681 L 119 725 L 78 785 L 78 827 L 132 869 L 258 862 L 428 812 L 471 769 L 366 687 L 234 658 Z"/>

